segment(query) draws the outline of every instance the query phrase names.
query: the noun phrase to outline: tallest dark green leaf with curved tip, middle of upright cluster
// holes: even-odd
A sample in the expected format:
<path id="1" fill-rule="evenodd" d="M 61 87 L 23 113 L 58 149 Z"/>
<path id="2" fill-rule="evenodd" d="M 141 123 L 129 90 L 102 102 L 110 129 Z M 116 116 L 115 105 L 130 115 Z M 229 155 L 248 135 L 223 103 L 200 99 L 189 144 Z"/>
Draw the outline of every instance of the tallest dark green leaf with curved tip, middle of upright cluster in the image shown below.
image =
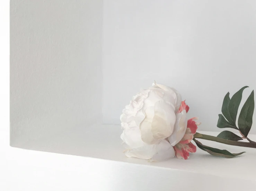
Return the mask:
<path id="1" fill-rule="evenodd" d="M 245 87 L 241 88 L 238 92 L 236 92 L 232 96 L 232 98 L 229 102 L 228 110 L 229 110 L 229 113 L 230 113 L 230 117 L 233 121 L 232 122 L 233 124 L 236 124 L 237 111 L 238 111 L 239 105 L 240 105 L 241 100 L 242 100 L 242 92 L 244 91 L 245 88 L 248 88 L 248 86 L 245 86 Z"/>

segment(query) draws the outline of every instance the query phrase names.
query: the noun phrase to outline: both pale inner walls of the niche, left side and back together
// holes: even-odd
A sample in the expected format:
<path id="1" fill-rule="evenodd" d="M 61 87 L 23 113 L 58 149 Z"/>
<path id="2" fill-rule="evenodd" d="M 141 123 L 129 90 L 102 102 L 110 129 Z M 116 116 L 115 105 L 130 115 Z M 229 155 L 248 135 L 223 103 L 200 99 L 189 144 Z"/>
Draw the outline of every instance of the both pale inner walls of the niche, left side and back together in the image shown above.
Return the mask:
<path id="1" fill-rule="evenodd" d="M 200 130 L 219 130 L 224 95 L 256 89 L 255 12 L 255 1 L 105 0 L 103 10 L 102 0 L 11 0 L 11 144 L 88 124 L 102 109 L 120 124 L 153 80 L 182 93 Z"/>

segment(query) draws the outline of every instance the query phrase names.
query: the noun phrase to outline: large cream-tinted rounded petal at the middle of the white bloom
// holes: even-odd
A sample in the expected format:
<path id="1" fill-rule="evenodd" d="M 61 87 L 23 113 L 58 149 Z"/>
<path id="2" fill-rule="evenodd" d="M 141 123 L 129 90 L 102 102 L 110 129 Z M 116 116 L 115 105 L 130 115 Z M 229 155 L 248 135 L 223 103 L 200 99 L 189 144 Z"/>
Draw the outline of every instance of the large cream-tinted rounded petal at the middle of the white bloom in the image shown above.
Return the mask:
<path id="1" fill-rule="evenodd" d="M 175 121 L 176 115 L 171 105 L 164 101 L 156 102 L 151 124 L 153 138 L 160 140 L 169 137 L 174 130 Z"/>

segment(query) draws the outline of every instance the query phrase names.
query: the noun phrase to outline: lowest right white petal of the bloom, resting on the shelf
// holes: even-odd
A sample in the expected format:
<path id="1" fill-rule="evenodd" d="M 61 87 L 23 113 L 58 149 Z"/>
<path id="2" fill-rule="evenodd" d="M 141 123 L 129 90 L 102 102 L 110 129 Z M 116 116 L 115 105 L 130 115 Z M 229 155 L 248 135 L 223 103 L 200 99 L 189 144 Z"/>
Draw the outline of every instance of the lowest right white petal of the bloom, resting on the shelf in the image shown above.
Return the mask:
<path id="1" fill-rule="evenodd" d="M 174 148 L 165 139 L 156 145 L 156 151 L 150 161 L 165 161 L 175 156 Z"/>

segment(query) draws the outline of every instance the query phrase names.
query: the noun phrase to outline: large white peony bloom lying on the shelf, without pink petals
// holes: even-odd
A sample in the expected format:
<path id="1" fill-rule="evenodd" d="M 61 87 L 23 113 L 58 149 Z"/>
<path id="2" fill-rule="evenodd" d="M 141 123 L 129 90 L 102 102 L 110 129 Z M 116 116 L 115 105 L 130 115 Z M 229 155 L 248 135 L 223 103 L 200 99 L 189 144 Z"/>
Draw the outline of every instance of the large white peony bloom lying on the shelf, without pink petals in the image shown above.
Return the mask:
<path id="1" fill-rule="evenodd" d="M 181 102 L 175 89 L 156 82 L 133 96 L 120 117 L 125 155 L 150 161 L 173 158 L 173 146 L 187 128 L 186 110 L 179 111 Z"/>

